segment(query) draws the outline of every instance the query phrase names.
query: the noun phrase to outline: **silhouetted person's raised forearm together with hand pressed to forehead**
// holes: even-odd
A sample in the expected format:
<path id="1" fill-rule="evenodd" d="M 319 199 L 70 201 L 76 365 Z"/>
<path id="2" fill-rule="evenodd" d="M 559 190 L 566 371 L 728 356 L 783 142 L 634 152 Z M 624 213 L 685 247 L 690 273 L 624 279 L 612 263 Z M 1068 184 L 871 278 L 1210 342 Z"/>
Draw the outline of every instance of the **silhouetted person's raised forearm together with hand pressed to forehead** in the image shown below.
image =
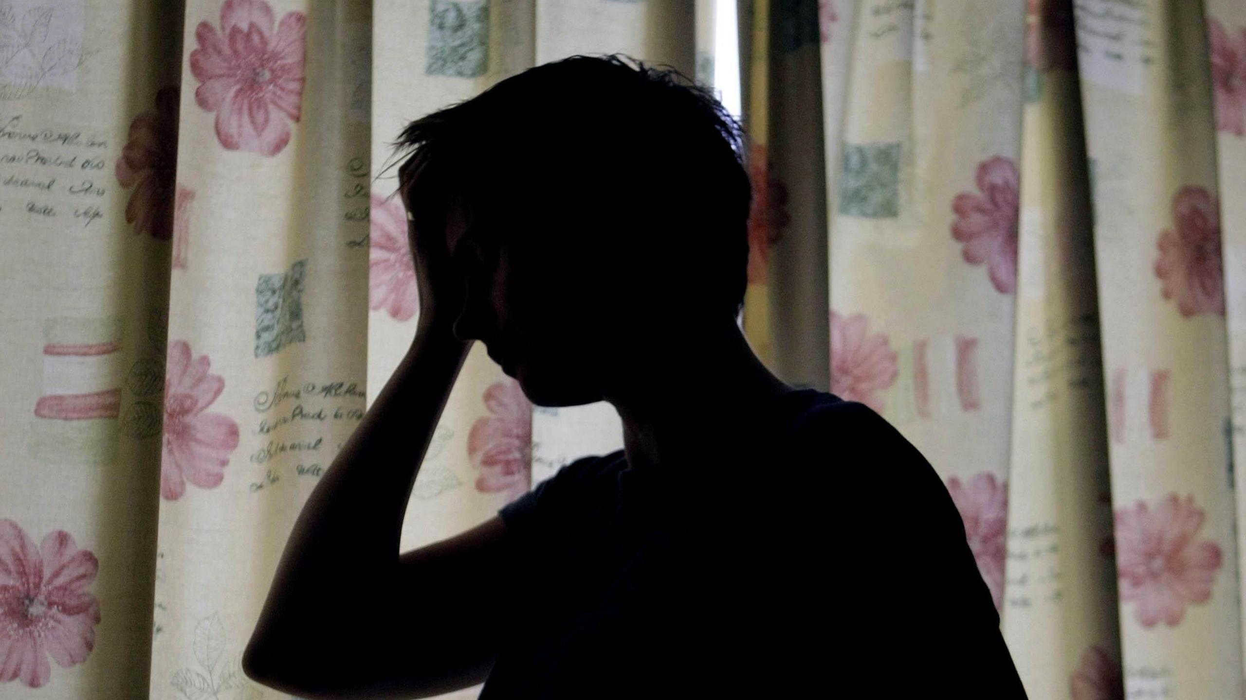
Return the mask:
<path id="1" fill-rule="evenodd" d="M 400 649 L 404 654 L 422 649 L 391 641 L 395 631 L 416 631 L 394 627 L 417 617 L 422 602 L 412 600 L 420 592 L 411 589 L 410 562 L 427 558 L 421 554 L 406 563 L 400 558 L 402 518 L 472 344 L 452 331 L 464 281 L 450 263 L 445 238 L 436 233 L 417 237 L 410 227 L 420 290 L 415 340 L 304 504 L 243 654 L 244 673 L 279 690 L 312 698 L 412 696 L 399 695 L 394 685 L 385 685 L 391 679 L 379 673 L 388 673 L 386 663 L 401 663 L 388 658 Z M 490 538 L 468 536 L 460 551 L 475 552 L 466 547 L 468 539 Z M 485 552 L 492 557 L 493 549 Z M 485 560 L 493 559 L 460 556 L 445 569 L 466 570 Z M 435 572 L 426 578 L 450 582 L 456 575 Z M 326 656 L 308 658 L 309 648 Z M 440 663 L 449 661 L 429 660 L 425 670 L 435 674 Z"/>

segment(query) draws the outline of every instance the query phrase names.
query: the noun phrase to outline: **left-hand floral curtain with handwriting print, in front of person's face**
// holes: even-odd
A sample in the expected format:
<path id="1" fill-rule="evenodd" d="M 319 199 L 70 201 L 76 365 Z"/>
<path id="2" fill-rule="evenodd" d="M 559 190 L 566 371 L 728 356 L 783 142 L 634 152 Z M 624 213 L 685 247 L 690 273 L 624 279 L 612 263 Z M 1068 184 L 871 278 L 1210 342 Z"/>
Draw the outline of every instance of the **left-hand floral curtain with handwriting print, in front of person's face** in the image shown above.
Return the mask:
<path id="1" fill-rule="evenodd" d="M 284 698 L 240 653 L 315 480 L 415 333 L 388 142 L 573 52 L 708 77 L 713 5 L 0 1 L 0 564 L 42 567 L 12 583 L 49 630 L 6 641 L 21 661 L 0 694 Z M 621 441 L 607 404 L 533 415 L 476 348 L 402 548 Z"/>

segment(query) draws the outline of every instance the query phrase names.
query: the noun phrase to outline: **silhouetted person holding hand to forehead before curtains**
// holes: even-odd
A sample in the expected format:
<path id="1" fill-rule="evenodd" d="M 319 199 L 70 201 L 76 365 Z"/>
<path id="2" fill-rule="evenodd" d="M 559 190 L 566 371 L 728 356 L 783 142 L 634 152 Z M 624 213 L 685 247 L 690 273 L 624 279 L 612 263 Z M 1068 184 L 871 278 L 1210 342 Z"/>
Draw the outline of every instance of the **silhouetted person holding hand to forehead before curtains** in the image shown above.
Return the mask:
<path id="1" fill-rule="evenodd" d="M 1024 698 L 927 461 L 743 336 L 741 138 L 678 73 L 586 56 L 402 131 L 415 341 L 295 524 L 250 678 L 310 699 Z M 475 340 L 538 406 L 611 402 L 624 448 L 399 554 Z"/>

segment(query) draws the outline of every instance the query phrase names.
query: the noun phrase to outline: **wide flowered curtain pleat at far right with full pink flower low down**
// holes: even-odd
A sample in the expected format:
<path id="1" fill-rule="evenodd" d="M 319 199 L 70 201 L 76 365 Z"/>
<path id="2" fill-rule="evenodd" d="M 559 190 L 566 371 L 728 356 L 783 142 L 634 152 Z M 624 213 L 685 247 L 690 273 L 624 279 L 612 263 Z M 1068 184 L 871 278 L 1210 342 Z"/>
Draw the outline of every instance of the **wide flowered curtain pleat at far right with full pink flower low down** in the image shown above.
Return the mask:
<path id="1" fill-rule="evenodd" d="M 1087 4 L 1078 30 L 1089 37 L 1079 57 L 1125 683 L 1237 698 L 1224 291 L 1220 262 L 1207 258 L 1220 257 L 1209 220 L 1219 197 L 1207 25 L 1192 2 L 1120 16 L 1109 5 Z M 1159 533 L 1187 541 L 1158 557 Z M 1180 585 L 1165 594 L 1158 582 L 1129 583 L 1148 567 L 1166 567 Z"/>

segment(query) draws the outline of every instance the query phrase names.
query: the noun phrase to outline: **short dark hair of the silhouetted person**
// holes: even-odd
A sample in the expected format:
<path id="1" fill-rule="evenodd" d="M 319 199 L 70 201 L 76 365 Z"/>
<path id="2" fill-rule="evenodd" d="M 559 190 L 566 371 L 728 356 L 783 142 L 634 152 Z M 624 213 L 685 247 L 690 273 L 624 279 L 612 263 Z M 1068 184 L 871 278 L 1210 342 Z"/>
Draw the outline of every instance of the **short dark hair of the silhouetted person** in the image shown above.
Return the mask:
<path id="1" fill-rule="evenodd" d="M 659 294 L 684 299 L 668 301 L 734 319 L 753 201 L 745 141 L 709 87 L 613 54 L 502 80 L 410 122 L 391 146 L 406 154 L 400 187 L 420 181 L 410 201 L 429 210 L 412 212 L 416 222 L 439 220 L 450 201 L 468 218 L 488 209 L 582 214 L 601 233 L 587 245 L 606 259 L 640 265 L 647 284 L 670 280 Z M 542 178 L 553 182 L 533 182 Z M 542 197 L 549 193 L 557 206 Z M 535 210 L 542 203 L 548 209 Z"/>

